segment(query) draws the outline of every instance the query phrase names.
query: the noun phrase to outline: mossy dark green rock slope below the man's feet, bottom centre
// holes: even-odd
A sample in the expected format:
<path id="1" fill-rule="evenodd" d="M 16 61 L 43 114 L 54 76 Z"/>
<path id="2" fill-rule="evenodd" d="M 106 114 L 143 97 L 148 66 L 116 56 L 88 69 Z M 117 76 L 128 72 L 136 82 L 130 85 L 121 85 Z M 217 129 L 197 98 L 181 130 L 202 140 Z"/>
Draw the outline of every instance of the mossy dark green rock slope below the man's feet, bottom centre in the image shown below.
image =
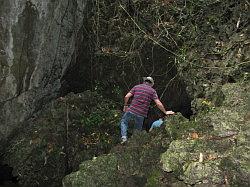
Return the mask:
<path id="1" fill-rule="evenodd" d="M 166 145 L 162 142 L 167 143 L 167 137 L 164 129 L 161 130 L 163 131 L 158 131 L 158 134 L 135 131 L 126 145 L 118 145 L 108 155 L 83 162 L 79 171 L 64 178 L 63 185 L 164 186 L 160 155 L 166 150 Z M 111 166 L 110 160 L 113 160 Z M 110 171 L 112 176 L 109 175 Z M 83 182 L 78 182 L 79 180 Z"/>

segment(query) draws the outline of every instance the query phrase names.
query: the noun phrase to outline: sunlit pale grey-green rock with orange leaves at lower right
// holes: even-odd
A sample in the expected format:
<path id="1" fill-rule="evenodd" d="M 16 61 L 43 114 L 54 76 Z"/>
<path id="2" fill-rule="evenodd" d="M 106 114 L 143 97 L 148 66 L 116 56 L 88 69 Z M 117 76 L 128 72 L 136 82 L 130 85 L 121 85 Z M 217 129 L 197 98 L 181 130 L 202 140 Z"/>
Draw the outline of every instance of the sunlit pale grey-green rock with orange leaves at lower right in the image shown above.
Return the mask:
<path id="1" fill-rule="evenodd" d="M 162 154 L 163 169 L 189 185 L 248 186 L 249 88 L 249 83 L 225 84 L 221 106 L 209 105 L 189 122 L 169 120 L 167 129 L 176 140 Z"/>

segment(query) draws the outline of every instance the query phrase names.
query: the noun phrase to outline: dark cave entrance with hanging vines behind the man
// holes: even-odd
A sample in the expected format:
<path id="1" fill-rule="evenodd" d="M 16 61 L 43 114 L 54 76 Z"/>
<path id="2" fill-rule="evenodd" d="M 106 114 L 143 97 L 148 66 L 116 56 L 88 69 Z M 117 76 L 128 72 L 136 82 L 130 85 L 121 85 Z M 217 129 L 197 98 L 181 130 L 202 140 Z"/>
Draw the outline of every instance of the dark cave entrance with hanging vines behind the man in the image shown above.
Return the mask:
<path id="1" fill-rule="evenodd" d="M 103 54 L 91 41 L 87 33 L 78 33 L 76 51 L 69 67 L 61 78 L 61 96 L 101 88 L 101 94 L 123 105 L 124 95 L 142 77 L 152 76 L 155 89 L 166 109 L 180 112 L 190 119 L 193 114 L 191 97 L 186 91 L 185 81 L 179 76 L 175 56 L 159 46 L 146 43 L 138 56 L 127 61 L 121 57 Z M 119 89 L 119 94 L 115 89 Z M 153 115 L 153 113 L 152 113 Z"/>

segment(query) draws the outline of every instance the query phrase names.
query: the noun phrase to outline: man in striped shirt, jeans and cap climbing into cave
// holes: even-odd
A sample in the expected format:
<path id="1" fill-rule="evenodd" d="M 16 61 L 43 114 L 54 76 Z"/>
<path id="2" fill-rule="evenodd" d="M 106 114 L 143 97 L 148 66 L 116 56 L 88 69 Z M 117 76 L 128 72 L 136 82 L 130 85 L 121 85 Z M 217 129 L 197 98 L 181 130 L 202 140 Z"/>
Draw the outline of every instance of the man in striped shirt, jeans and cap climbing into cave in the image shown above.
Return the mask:
<path id="1" fill-rule="evenodd" d="M 143 84 L 134 86 L 124 97 L 125 112 L 121 119 L 121 136 L 122 142 L 127 141 L 128 123 L 131 119 L 135 120 L 135 129 L 142 130 L 143 120 L 147 117 L 150 102 L 153 100 L 165 115 L 174 114 L 173 111 L 166 111 L 163 104 L 158 98 L 156 91 L 152 88 L 154 80 L 152 77 L 144 77 Z M 132 98 L 130 106 L 128 106 L 129 99 Z"/>

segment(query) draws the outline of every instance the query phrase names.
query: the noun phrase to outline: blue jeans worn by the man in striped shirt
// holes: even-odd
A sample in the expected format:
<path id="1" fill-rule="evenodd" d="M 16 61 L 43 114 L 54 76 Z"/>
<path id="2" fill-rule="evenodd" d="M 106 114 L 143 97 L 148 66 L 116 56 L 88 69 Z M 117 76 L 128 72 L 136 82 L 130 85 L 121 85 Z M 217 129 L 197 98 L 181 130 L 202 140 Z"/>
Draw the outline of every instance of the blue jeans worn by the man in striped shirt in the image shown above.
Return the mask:
<path id="1" fill-rule="evenodd" d="M 135 120 L 134 129 L 142 130 L 142 125 L 143 125 L 144 117 L 143 116 L 139 116 L 137 114 L 133 114 L 131 112 L 125 112 L 123 114 L 123 116 L 122 116 L 121 124 L 120 124 L 122 137 L 127 137 L 128 123 L 132 119 Z"/>

